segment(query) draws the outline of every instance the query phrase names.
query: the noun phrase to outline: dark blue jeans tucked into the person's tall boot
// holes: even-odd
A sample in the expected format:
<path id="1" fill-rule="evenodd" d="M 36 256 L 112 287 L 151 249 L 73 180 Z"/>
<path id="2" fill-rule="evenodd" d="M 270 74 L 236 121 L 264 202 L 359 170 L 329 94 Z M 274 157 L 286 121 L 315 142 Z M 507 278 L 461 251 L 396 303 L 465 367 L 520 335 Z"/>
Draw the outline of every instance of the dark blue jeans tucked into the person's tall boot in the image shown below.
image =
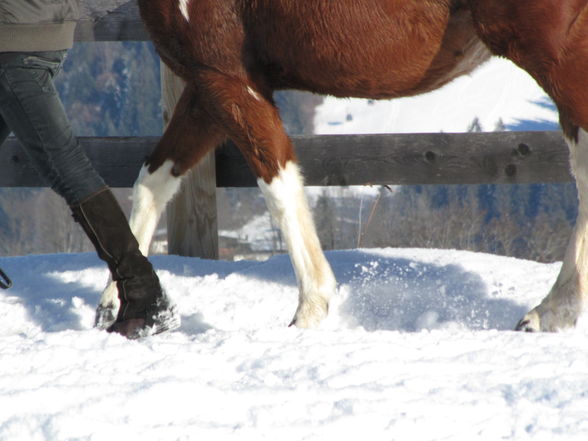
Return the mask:
<path id="1" fill-rule="evenodd" d="M 74 136 L 53 77 L 66 51 L 0 53 L 0 145 L 10 132 L 69 205 L 106 185 Z"/>

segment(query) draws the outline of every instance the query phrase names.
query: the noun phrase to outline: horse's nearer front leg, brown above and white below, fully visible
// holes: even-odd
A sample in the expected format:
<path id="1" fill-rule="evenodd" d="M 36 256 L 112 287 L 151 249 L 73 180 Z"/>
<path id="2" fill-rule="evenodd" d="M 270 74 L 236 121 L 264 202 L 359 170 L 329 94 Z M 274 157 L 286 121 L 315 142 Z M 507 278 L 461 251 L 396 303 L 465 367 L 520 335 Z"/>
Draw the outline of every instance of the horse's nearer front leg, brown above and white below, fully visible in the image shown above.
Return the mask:
<path id="1" fill-rule="evenodd" d="M 308 209 L 302 177 L 278 111 L 247 80 L 206 71 L 199 87 L 206 108 L 239 147 L 257 176 L 272 217 L 285 238 L 296 274 L 299 302 L 291 324 L 315 327 L 327 315 L 336 282 Z M 204 100 L 203 100 L 204 101 Z"/>

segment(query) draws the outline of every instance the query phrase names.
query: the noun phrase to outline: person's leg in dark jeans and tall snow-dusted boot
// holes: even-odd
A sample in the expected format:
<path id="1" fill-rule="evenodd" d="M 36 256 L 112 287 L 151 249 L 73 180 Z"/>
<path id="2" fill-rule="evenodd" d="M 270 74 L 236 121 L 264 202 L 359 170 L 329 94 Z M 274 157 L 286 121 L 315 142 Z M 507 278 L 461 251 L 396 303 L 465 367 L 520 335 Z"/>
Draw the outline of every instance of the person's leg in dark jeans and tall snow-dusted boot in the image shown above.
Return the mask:
<path id="1" fill-rule="evenodd" d="M 0 117 L 41 176 L 65 198 L 108 264 L 121 308 L 104 327 L 130 338 L 175 328 L 178 319 L 157 275 L 73 134 L 53 85 L 63 56 L 64 52 L 0 54 Z"/>

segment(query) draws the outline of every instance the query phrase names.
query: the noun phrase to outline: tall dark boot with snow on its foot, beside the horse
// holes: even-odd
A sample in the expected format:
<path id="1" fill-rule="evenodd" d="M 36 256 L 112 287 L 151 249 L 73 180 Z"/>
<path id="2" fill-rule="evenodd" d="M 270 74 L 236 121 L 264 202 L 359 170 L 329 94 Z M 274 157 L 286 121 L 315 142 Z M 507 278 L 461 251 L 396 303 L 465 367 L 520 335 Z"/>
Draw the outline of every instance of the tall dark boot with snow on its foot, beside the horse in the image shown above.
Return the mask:
<path id="1" fill-rule="evenodd" d="M 116 282 L 120 309 L 107 330 L 139 338 L 177 328 L 179 315 L 162 291 L 151 263 L 139 251 L 112 192 L 104 189 L 71 209 Z"/>

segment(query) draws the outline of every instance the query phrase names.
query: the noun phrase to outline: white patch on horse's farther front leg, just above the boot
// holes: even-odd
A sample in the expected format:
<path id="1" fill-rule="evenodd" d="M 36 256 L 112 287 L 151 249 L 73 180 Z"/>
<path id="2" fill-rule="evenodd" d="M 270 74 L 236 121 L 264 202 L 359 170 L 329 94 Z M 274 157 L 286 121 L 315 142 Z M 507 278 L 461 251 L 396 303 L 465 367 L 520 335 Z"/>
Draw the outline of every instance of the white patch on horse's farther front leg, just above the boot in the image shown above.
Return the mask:
<path id="1" fill-rule="evenodd" d="M 181 178 L 171 174 L 173 165 L 171 160 L 167 160 L 153 173 L 143 166 L 133 187 L 129 225 L 144 256 L 149 254 L 149 245 L 161 212 L 180 188 Z"/>

